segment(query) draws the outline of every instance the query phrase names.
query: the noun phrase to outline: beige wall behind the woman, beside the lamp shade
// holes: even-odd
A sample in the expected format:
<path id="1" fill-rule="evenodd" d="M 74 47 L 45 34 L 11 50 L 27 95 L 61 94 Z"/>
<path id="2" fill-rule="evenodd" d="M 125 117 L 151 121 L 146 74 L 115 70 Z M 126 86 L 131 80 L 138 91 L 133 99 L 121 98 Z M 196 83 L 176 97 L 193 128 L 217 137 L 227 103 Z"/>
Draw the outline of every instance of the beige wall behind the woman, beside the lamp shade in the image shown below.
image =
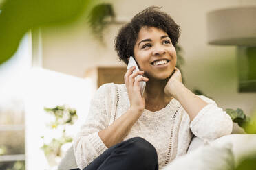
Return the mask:
<path id="1" fill-rule="evenodd" d="M 255 110 L 256 93 L 237 93 L 236 47 L 207 44 L 206 14 L 211 10 L 241 5 L 256 5 L 254 0 L 119 0 L 110 1 L 118 17 L 130 19 L 150 5 L 162 6 L 181 26 L 180 45 L 186 64 L 183 76 L 186 86 L 198 88 L 223 108 L 242 108 L 246 114 Z M 103 47 L 85 26 L 43 29 L 43 67 L 78 77 L 94 66 L 123 66 L 114 51 L 114 37 L 120 25 L 105 30 Z"/>

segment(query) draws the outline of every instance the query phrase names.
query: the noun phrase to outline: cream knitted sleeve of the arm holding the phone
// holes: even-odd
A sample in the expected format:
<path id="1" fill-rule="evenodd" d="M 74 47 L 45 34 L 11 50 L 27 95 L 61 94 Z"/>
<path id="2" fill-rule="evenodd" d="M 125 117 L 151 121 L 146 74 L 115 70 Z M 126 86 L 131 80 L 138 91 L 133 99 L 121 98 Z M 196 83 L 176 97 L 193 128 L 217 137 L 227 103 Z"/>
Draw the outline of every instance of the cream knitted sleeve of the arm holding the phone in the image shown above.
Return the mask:
<path id="1" fill-rule="evenodd" d="M 91 101 L 87 119 L 73 141 L 74 155 L 79 169 L 85 168 L 107 149 L 98 136 L 100 130 L 107 128 L 105 86 L 100 86 L 96 91 Z"/>

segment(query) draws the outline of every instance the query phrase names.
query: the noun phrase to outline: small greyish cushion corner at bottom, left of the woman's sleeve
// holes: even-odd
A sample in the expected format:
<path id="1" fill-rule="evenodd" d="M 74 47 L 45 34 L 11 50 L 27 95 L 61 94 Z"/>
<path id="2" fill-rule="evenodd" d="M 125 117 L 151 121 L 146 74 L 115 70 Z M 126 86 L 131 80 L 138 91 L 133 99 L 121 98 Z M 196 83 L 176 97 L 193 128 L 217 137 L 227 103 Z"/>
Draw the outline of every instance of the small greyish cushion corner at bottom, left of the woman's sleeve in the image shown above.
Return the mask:
<path id="1" fill-rule="evenodd" d="M 74 156 L 73 147 L 70 147 L 70 149 L 67 150 L 67 153 L 58 165 L 58 170 L 67 170 L 75 168 L 77 168 L 76 158 Z"/>

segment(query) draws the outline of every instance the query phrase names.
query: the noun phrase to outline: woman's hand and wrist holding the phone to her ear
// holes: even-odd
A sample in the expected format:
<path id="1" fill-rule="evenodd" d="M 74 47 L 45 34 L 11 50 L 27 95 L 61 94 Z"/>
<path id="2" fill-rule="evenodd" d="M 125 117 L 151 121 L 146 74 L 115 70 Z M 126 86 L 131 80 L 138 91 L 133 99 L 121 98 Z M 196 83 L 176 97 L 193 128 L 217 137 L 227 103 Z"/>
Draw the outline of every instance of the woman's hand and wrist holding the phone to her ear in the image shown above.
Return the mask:
<path id="1" fill-rule="evenodd" d="M 135 66 L 132 66 L 125 73 L 125 86 L 127 88 L 130 109 L 135 112 L 142 113 L 145 108 L 145 98 L 140 94 L 140 82 L 147 82 L 149 79 L 147 77 L 140 76 L 135 79 L 137 75 L 143 75 L 144 71 L 134 71 Z M 134 71 L 134 73 L 133 73 Z"/>

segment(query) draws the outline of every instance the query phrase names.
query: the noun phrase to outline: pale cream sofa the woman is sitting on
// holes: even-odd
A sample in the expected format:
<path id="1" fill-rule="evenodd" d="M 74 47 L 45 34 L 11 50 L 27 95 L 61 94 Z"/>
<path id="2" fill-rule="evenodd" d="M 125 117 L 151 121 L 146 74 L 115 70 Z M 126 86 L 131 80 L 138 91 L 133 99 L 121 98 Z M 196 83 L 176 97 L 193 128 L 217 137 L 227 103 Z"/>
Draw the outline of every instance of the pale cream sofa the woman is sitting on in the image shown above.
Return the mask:
<path id="1" fill-rule="evenodd" d="M 171 162 L 164 170 L 233 169 L 244 156 L 256 154 L 256 134 L 230 134 L 214 141 L 202 141 L 194 137 L 186 155 Z M 68 149 L 59 170 L 76 168 L 73 148 Z"/>

